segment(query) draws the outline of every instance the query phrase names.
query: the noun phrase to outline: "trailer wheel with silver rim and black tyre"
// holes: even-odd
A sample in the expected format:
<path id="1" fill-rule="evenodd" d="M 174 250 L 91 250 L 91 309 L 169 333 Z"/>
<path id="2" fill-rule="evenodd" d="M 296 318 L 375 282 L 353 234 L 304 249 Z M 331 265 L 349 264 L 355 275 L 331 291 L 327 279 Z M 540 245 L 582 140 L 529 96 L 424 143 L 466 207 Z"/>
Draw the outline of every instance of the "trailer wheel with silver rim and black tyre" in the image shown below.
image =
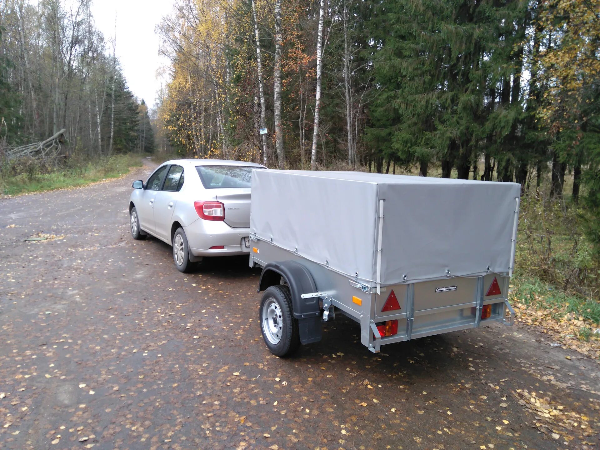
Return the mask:
<path id="1" fill-rule="evenodd" d="M 269 286 L 260 301 L 260 331 L 271 353 L 288 356 L 300 344 L 298 319 L 292 314 L 292 295 L 287 286 Z"/>

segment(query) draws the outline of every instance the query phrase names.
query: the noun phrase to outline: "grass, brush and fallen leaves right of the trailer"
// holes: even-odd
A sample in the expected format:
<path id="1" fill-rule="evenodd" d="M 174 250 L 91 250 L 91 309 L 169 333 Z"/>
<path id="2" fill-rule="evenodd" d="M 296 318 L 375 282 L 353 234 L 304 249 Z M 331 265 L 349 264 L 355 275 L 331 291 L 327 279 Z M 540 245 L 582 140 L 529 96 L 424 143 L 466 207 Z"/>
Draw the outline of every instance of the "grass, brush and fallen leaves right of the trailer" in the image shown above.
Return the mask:
<path id="1" fill-rule="evenodd" d="M 511 301 L 521 323 L 600 358 L 600 264 L 586 234 L 590 220 L 571 198 L 524 194 Z"/>

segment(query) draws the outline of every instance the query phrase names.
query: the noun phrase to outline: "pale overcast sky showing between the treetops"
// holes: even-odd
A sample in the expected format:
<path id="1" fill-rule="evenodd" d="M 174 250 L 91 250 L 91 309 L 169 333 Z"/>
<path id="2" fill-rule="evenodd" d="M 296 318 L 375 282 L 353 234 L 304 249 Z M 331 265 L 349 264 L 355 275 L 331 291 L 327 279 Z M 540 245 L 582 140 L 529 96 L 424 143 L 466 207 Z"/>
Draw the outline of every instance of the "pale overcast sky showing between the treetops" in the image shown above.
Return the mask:
<path id="1" fill-rule="evenodd" d="M 167 65 L 158 56 L 158 37 L 154 28 L 163 16 L 170 13 L 173 0 L 94 0 L 92 14 L 96 27 L 104 34 L 109 46 L 115 35 L 116 56 L 121 61 L 129 88 L 136 97 L 154 105 L 161 82 L 156 71 Z"/>

